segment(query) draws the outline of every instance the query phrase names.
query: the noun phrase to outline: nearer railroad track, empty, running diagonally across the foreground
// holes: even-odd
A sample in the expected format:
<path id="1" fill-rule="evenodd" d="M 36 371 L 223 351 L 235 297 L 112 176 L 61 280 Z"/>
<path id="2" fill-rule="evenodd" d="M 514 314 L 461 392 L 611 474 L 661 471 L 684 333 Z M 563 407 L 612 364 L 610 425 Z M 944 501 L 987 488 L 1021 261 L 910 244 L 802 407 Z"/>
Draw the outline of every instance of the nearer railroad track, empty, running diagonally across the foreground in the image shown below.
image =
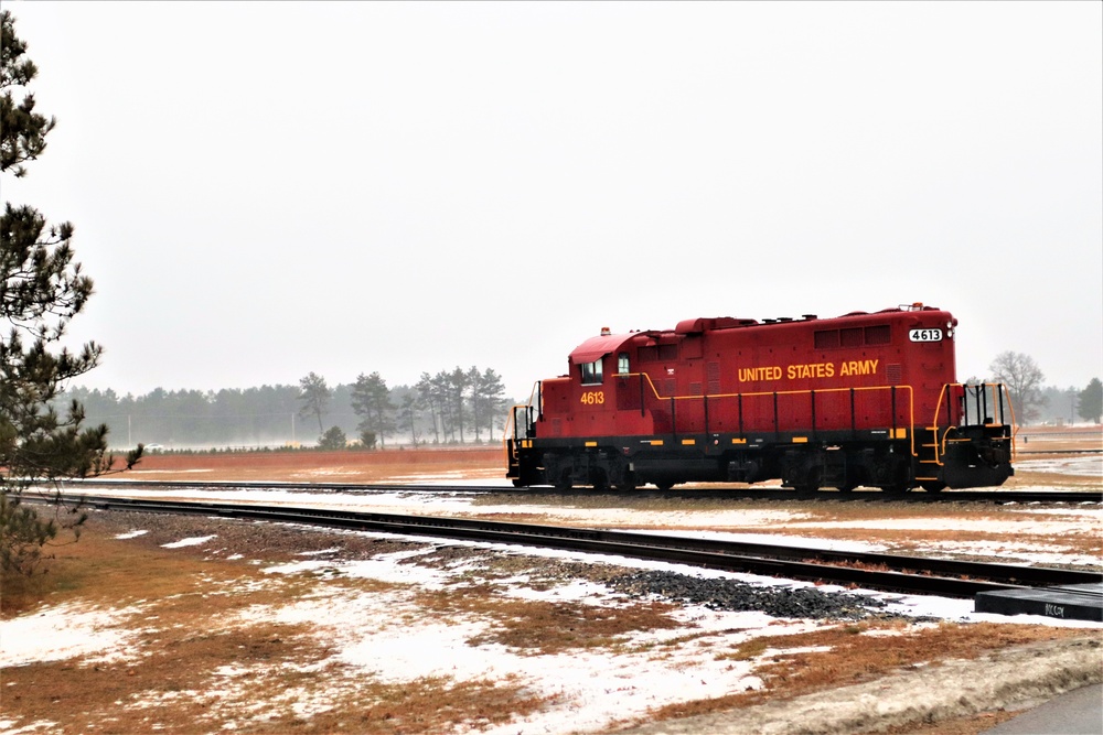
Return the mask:
<path id="1" fill-rule="evenodd" d="M 30 499 L 30 498 L 26 498 Z M 731 572 L 811 580 L 870 590 L 972 597 L 981 592 L 1032 586 L 1099 584 L 1103 574 L 1037 566 L 989 564 L 804 547 L 740 543 L 589 528 L 508 523 L 257 504 L 182 502 L 117 497 L 63 496 L 103 510 L 215 516 L 325 528 L 431 536 L 553 548 L 665 561 Z"/>

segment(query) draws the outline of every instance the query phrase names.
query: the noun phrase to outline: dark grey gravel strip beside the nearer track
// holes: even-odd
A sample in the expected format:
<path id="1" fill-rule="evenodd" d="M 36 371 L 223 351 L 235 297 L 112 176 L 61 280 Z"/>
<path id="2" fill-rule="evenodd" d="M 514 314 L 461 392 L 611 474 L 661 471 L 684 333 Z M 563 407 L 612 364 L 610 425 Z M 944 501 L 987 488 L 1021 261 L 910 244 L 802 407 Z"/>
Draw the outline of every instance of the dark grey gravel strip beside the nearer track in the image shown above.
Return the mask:
<path id="1" fill-rule="evenodd" d="M 867 595 L 823 592 L 817 587 L 763 587 L 738 580 L 662 571 L 633 572 L 606 580 L 606 584 L 630 597 L 657 595 L 715 610 L 761 610 L 772 617 L 857 620 L 886 606 L 885 602 Z"/>

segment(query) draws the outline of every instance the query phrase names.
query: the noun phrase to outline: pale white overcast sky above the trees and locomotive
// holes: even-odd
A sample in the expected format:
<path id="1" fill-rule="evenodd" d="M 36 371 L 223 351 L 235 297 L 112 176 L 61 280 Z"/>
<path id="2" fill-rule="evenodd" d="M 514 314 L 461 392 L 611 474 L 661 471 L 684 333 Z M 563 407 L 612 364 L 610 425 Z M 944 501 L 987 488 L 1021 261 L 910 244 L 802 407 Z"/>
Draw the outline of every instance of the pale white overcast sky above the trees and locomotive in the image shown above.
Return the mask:
<path id="1" fill-rule="evenodd" d="M 1103 377 L 1103 3 L 6 2 L 57 118 L 76 385 L 459 365 L 602 326 L 953 312 Z"/>

